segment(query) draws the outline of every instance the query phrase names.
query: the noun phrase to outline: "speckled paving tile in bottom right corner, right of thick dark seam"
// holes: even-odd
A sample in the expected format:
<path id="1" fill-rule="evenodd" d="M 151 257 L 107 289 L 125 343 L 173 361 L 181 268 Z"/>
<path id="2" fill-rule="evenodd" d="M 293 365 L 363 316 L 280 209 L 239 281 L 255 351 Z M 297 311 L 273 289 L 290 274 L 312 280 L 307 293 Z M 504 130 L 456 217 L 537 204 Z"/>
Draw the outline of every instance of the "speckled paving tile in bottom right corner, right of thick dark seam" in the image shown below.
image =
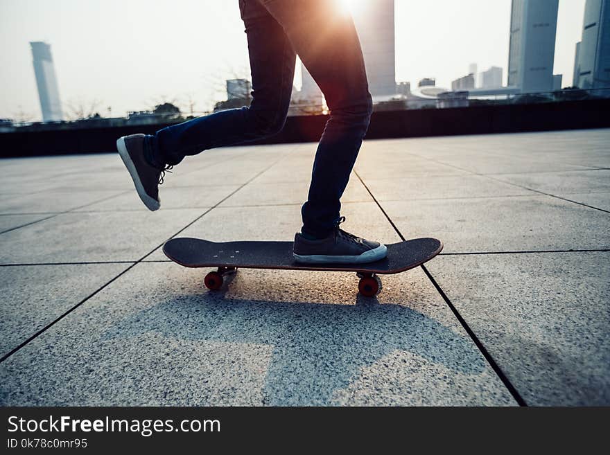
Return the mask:
<path id="1" fill-rule="evenodd" d="M 427 267 L 525 402 L 610 404 L 610 252 L 441 256 Z"/>

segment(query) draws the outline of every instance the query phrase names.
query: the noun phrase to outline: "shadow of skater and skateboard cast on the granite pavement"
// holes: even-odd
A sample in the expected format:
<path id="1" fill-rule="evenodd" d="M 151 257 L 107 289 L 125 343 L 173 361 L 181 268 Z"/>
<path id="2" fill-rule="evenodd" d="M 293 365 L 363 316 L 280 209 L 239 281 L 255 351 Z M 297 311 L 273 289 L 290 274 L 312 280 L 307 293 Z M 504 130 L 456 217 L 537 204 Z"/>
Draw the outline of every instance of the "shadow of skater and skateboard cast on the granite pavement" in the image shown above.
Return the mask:
<path id="1" fill-rule="evenodd" d="M 362 296 L 356 305 L 338 305 L 247 300 L 222 291 L 187 294 L 132 314 L 105 337 L 151 331 L 195 343 L 272 346 L 261 374 L 266 375 L 263 404 L 275 406 L 336 403 L 336 392 L 349 388 L 369 367 L 385 370 L 384 377 L 429 364 L 442 366 L 449 376 L 485 370 L 485 360 L 465 334 L 409 307 Z M 397 350 L 406 355 L 395 355 Z"/>

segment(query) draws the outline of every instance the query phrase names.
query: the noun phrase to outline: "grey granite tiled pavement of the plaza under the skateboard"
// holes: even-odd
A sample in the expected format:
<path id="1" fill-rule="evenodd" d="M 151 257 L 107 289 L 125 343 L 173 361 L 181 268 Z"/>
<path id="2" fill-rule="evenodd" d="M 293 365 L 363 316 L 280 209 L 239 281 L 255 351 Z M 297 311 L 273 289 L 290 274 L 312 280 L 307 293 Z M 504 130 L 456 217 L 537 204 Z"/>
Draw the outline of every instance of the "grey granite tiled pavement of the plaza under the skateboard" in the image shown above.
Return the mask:
<path id="1" fill-rule="evenodd" d="M 383 278 L 206 270 L 174 236 L 291 240 L 315 144 L 209 150 L 146 211 L 115 154 L 7 159 L 3 405 L 610 404 L 610 130 L 365 141 L 345 229 L 434 236 Z"/>

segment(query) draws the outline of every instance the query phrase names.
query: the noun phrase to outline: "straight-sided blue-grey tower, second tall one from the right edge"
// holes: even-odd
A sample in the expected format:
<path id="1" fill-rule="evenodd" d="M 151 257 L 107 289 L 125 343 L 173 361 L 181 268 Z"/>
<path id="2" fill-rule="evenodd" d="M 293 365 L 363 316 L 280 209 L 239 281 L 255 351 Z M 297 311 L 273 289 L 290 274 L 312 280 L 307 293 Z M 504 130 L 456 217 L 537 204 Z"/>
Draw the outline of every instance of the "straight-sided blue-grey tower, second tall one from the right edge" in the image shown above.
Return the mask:
<path id="1" fill-rule="evenodd" d="M 508 85 L 552 91 L 559 0 L 512 0 Z"/>

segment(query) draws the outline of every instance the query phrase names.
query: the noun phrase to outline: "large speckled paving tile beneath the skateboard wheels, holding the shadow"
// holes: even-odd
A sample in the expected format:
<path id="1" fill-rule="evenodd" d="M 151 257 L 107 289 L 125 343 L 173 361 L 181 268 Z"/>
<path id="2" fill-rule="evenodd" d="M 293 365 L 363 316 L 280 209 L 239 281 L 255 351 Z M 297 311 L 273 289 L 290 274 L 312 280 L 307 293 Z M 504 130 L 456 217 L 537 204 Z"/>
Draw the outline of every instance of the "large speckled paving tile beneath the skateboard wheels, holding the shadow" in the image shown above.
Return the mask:
<path id="1" fill-rule="evenodd" d="M 207 292 L 137 265 L 1 364 L 0 404 L 515 404 L 421 270 L 378 301 L 356 280 L 239 271 Z"/>

